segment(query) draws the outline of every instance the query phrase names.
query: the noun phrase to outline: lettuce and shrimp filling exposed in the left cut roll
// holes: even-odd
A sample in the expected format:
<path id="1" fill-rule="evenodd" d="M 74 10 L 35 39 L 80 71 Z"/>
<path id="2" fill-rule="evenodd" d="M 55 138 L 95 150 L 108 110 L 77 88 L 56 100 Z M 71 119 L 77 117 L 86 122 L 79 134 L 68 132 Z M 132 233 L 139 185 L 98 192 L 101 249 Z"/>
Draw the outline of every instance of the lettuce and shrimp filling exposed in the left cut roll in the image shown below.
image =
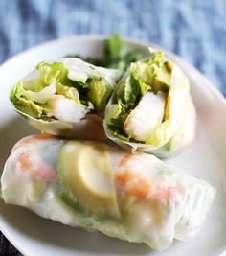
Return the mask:
<path id="1" fill-rule="evenodd" d="M 117 71 L 79 58 L 40 62 L 11 91 L 11 102 L 25 115 L 47 121 L 79 121 L 88 112 L 103 112 Z"/>

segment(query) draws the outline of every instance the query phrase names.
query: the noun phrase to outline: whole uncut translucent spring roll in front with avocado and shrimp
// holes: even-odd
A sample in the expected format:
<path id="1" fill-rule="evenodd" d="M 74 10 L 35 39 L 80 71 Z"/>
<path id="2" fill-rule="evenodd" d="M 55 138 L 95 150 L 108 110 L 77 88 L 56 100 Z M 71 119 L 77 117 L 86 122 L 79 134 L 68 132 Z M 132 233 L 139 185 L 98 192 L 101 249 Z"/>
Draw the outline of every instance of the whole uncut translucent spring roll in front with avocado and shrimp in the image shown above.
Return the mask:
<path id="1" fill-rule="evenodd" d="M 45 135 L 14 146 L 1 187 L 6 203 L 156 250 L 191 239 L 215 198 L 207 182 L 153 155 Z"/>

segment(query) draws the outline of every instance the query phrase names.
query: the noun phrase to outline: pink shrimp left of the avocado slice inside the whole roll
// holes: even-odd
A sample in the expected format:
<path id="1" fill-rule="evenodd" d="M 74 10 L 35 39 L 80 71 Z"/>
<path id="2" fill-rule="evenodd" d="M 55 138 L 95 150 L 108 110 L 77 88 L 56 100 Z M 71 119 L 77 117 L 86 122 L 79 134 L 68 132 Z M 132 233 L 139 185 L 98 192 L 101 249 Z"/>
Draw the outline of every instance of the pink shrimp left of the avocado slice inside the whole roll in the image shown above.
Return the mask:
<path id="1" fill-rule="evenodd" d="M 30 175 L 36 181 L 56 181 L 58 178 L 56 170 L 51 165 L 43 162 L 40 157 L 34 156 L 32 151 L 21 153 L 17 166 L 23 172 L 30 171 Z"/>

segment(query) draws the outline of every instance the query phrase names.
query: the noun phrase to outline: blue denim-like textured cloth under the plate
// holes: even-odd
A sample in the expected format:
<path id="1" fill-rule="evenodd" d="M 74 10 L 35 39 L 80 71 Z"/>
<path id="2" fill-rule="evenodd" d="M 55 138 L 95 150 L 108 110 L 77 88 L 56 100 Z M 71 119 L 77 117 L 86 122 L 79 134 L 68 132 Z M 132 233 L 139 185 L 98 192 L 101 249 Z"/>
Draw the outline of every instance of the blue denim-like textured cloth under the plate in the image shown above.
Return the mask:
<path id="1" fill-rule="evenodd" d="M 0 63 L 46 40 L 114 32 L 178 54 L 226 96 L 225 0 L 0 1 Z M 4 243 L 0 255 L 17 255 Z"/>

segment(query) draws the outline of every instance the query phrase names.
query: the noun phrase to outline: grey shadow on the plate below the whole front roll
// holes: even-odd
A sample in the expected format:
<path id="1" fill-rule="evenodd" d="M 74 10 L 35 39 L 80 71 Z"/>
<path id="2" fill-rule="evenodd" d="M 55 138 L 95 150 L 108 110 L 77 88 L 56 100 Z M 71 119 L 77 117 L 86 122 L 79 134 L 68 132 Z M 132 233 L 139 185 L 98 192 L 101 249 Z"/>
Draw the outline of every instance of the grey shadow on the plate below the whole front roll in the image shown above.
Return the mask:
<path id="1" fill-rule="evenodd" d="M 21 207 L 5 205 L 0 199 L 1 214 L 4 221 L 21 235 L 41 244 L 59 249 L 82 252 L 96 252 L 103 255 L 146 255 L 150 249 L 145 244 L 130 244 L 102 235 L 99 232 L 87 232 L 72 228 L 56 221 L 49 221 L 36 216 Z M 4 231 L 4 230 L 3 230 Z M 16 245 L 16 241 L 15 245 Z"/>

